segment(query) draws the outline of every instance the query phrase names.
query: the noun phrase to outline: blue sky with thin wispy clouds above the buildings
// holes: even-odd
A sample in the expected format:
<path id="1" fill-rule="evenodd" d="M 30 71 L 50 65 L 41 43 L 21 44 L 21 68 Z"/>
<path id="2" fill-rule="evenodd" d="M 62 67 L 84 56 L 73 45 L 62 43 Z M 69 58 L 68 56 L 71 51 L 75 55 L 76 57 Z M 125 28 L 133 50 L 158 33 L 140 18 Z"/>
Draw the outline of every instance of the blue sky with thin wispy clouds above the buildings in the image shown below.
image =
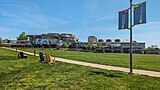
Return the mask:
<path id="1" fill-rule="evenodd" d="M 133 0 L 133 3 L 144 0 Z M 71 33 L 79 41 L 129 40 L 129 30 L 118 30 L 118 12 L 129 8 L 129 0 L 0 0 L 0 37 Z M 146 47 L 160 47 L 160 0 L 147 0 L 147 23 L 133 28 L 133 40 Z"/>

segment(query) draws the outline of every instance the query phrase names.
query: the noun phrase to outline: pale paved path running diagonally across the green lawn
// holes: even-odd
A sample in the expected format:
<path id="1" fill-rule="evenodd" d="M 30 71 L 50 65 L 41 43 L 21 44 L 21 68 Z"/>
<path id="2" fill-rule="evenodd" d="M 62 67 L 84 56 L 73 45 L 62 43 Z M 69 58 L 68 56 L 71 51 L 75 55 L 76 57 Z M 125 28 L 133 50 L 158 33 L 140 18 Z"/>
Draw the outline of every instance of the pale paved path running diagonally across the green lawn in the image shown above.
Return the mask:
<path id="1" fill-rule="evenodd" d="M 16 49 L 12 49 L 12 48 L 5 48 L 5 49 L 16 51 Z M 17 50 L 17 51 L 20 52 L 22 50 Z M 22 51 L 22 52 L 24 52 L 25 54 L 34 55 L 33 53 L 30 53 L 30 52 L 25 52 L 25 51 Z M 39 55 L 36 54 L 36 56 L 39 56 Z M 58 57 L 56 57 L 56 61 L 61 61 L 61 62 L 70 63 L 70 64 L 77 64 L 77 65 L 82 65 L 82 66 L 88 66 L 88 67 L 94 67 L 94 68 L 99 68 L 99 69 L 105 69 L 105 70 L 116 70 L 116 71 L 122 71 L 122 72 L 129 72 L 129 68 L 100 65 L 100 64 L 94 64 L 94 63 L 88 63 L 88 62 L 63 59 L 63 58 L 58 58 Z M 133 73 L 140 74 L 140 75 L 148 75 L 152 77 L 160 77 L 160 72 L 155 72 L 155 71 L 133 69 Z"/>

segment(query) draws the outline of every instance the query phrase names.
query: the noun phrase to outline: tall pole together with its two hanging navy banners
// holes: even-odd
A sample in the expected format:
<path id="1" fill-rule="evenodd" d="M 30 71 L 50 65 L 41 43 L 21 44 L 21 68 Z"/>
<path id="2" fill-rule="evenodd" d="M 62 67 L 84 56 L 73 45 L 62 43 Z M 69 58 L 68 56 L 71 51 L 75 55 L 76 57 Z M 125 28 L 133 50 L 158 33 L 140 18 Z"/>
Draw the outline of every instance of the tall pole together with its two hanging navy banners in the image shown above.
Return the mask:
<path id="1" fill-rule="evenodd" d="M 144 24 L 146 23 L 146 2 L 141 2 L 138 4 L 132 4 L 133 0 L 129 0 L 130 2 L 130 8 L 127 10 L 123 10 L 119 12 L 119 27 L 118 29 L 129 29 L 130 30 L 130 72 L 129 74 L 133 73 L 133 67 L 132 67 L 132 55 L 133 55 L 133 41 L 132 41 L 132 28 L 134 25 L 138 24 Z M 132 8 L 134 6 L 134 24 L 132 24 Z M 129 13 L 130 11 L 130 27 L 128 28 L 128 21 L 129 21 Z M 126 18 L 124 18 L 125 16 Z M 127 23 L 123 23 L 127 22 Z"/>

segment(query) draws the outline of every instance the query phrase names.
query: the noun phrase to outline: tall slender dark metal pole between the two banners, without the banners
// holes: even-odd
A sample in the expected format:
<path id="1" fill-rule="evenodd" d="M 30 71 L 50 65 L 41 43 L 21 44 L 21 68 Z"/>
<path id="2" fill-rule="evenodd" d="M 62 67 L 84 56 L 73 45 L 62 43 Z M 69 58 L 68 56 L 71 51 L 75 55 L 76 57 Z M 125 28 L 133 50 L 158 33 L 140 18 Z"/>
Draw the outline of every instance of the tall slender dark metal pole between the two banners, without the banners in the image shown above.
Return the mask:
<path id="1" fill-rule="evenodd" d="M 130 74 L 132 74 L 132 0 L 130 0 Z"/>

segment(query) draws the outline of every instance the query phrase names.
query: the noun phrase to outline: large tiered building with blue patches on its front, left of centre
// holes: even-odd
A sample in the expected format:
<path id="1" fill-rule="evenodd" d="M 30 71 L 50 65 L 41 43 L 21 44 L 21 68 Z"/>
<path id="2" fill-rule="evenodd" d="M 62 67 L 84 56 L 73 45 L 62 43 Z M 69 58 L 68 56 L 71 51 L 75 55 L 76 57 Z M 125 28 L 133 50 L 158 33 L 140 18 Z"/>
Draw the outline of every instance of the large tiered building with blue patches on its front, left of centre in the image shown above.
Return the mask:
<path id="1" fill-rule="evenodd" d="M 73 34 L 66 33 L 47 33 L 41 35 L 27 35 L 29 41 L 34 44 L 57 44 L 57 43 L 67 43 L 69 45 L 78 42 L 78 38 Z"/>

